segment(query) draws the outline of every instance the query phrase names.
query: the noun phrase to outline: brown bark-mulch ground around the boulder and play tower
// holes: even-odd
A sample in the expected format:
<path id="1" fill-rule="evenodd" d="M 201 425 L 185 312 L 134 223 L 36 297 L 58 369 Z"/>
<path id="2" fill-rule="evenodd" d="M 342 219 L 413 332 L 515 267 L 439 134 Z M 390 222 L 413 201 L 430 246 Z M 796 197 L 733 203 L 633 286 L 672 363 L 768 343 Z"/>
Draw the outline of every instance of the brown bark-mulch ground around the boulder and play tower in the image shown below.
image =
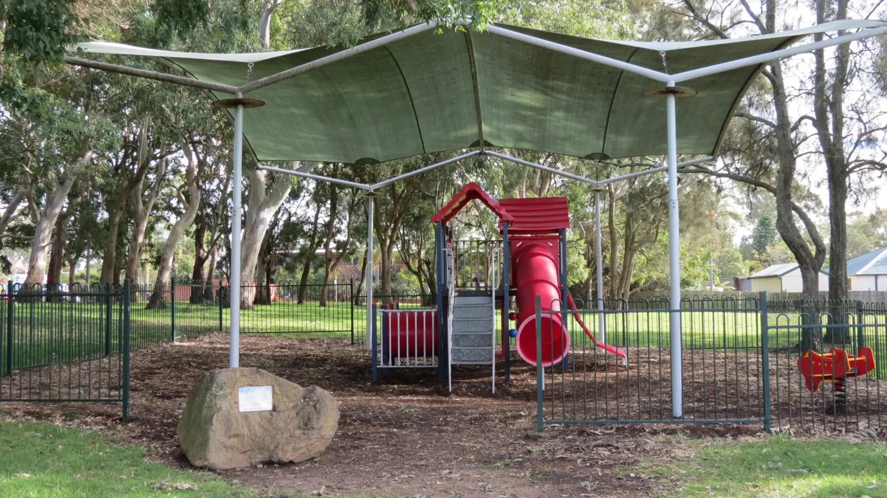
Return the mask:
<path id="1" fill-rule="evenodd" d="M 227 365 L 227 341 L 210 334 L 133 353 L 130 424 L 121 423 L 116 403 L 4 403 L 0 414 L 111 428 L 166 463 L 184 466 L 178 418 L 198 377 Z M 761 431 L 759 425 L 553 425 L 540 435 L 536 371 L 522 362 L 514 363 L 511 383 L 497 383 L 495 394 L 489 369 L 454 369 L 450 394 L 428 370 L 393 371 L 371 383 L 369 354 L 346 340 L 246 335 L 241 348 L 242 366 L 319 385 L 340 403 L 339 432 L 321 458 L 223 473 L 269 494 L 648 496 L 662 491 L 653 479 L 618 467 L 670 460 L 674 448 L 659 436 L 738 439 Z M 743 394 L 731 396 L 742 401 Z"/>

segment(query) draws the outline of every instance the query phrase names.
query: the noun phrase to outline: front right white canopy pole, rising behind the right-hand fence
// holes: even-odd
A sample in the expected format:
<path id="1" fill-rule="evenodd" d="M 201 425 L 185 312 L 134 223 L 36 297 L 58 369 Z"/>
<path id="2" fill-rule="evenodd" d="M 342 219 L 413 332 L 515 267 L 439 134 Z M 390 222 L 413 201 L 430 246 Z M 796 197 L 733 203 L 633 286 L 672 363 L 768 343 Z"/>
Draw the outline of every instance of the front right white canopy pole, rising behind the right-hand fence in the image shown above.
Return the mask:
<path id="1" fill-rule="evenodd" d="M 674 82 L 668 82 L 669 87 Z M 678 217 L 678 121 L 674 94 L 665 96 L 668 128 L 668 257 L 671 267 L 671 415 L 684 416 L 684 385 L 680 334 L 680 221 Z"/>

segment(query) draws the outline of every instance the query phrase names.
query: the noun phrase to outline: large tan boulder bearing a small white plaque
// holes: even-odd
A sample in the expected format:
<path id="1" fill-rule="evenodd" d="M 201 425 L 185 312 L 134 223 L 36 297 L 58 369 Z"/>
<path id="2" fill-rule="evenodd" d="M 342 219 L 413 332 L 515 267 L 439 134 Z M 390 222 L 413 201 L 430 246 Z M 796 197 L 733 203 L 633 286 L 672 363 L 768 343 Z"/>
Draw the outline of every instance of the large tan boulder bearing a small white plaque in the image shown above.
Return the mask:
<path id="1" fill-rule="evenodd" d="M 238 387 L 271 385 L 271 411 L 240 412 Z M 188 396 L 177 434 L 192 465 L 217 471 L 302 462 L 324 452 L 339 425 L 333 395 L 265 370 L 212 370 Z"/>

